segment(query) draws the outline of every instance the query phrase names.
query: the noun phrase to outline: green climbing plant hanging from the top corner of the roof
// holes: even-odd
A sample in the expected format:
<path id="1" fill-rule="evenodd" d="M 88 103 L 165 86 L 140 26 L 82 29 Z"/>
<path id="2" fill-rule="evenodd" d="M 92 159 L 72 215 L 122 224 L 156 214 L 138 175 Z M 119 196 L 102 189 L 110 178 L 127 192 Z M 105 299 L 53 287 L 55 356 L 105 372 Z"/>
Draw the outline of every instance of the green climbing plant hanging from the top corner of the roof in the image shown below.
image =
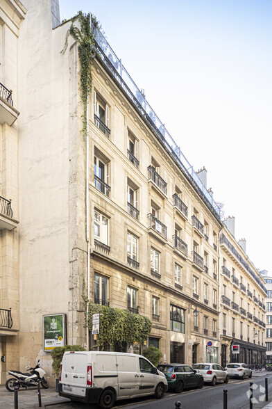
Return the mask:
<path id="1" fill-rule="evenodd" d="M 80 23 L 80 29 L 74 26 L 74 22 Z M 83 137 L 87 135 L 87 99 L 92 90 L 92 60 L 95 57 L 94 50 L 94 36 L 93 33 L 96 29 L 100 29 L 99 22 L 96 17 L 90 13 L 83 13 L 79 11 L 77 15 L 71 18 L 71 26 L 69 27 L 66 37 L 65 45 L 61 54 L 65 54 L 68 47 L 68 38 L 71 35 L 74 40 L 78 42 L 78 57 L 80 61 L 80 91 L 81 99 L 83 103 L 83 128 L 81 132 Z"/>

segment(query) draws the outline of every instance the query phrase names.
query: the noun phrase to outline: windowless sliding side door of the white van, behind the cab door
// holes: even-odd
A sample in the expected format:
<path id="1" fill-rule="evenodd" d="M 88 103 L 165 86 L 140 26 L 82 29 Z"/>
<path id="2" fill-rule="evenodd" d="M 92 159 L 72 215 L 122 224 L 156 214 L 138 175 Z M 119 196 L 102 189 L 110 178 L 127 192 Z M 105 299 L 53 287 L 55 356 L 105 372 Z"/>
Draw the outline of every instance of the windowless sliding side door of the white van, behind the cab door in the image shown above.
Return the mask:
<path id="1" fill-rule="evenodd" d="M 139 366 L 136 355 L 117 353 L 118 396 L 139 394 Z"/>

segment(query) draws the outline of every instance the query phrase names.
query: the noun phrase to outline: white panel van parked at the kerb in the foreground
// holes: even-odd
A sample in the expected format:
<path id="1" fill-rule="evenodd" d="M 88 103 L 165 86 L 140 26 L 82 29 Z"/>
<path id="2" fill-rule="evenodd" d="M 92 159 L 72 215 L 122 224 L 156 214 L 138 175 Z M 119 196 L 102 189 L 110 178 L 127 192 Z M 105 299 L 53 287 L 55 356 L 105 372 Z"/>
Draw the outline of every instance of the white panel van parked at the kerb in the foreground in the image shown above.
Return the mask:
<path id="1" fill-rule="evenodd" d="M 59 394 L 71 401 L 111 408 L 119 399 L 151 394 L 160 399 L 167 388 L 164 374 L 142 355 L 71 351 L 62 358 Z"/>

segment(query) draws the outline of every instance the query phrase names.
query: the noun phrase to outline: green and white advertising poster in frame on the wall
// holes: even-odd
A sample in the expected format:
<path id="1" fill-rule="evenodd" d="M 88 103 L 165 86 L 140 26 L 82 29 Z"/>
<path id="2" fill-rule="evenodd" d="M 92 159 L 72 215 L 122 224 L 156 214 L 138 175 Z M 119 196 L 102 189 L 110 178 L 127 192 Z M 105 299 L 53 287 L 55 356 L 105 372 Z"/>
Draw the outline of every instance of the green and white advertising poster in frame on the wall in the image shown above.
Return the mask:
<path id="1" fill-rule="evenodd" d="M 52 351 L 56 346 L 65 346 L 65 314 L 43 316 L 44 351 Z"/>

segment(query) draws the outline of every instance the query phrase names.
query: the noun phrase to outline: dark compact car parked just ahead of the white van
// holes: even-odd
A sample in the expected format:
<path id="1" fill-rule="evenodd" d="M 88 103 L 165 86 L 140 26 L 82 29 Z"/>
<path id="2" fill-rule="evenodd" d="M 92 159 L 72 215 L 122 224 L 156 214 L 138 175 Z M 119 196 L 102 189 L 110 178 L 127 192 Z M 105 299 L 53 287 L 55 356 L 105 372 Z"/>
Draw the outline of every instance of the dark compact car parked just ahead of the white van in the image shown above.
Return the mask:
<path id="1" fill-rule="evenodd" d="M 167 378 L 168 390 L 181 393 L 190 387 L 203 387 L 203 375 L 186 364 L 162 364 L 157 369 Z"/>

